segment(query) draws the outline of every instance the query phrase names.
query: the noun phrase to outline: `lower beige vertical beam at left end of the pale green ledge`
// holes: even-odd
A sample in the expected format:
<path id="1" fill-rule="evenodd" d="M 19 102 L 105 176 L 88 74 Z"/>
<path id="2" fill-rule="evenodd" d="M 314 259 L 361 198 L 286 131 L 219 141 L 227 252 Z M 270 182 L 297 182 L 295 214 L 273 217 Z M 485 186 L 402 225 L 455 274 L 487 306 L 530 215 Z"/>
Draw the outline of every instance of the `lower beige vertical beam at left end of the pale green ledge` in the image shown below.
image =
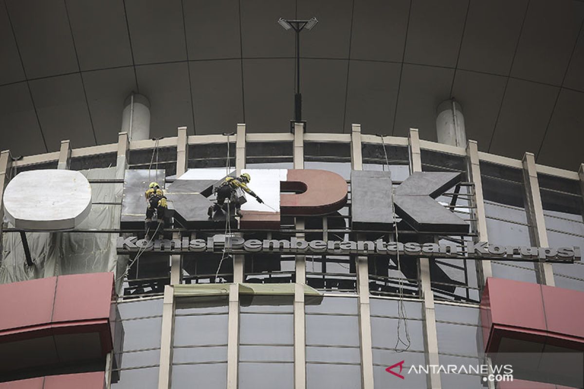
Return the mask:
<path id="1" fill-rule="evenodd" d="M 160 341 L 160 369 L 158 371 L 158 389 L 171 387 L 172 374 L 172 344 L 175 321 L 175 296 L 172 285 L 164 287 L 164 302 L 162 304 L 162 331 Z"/>

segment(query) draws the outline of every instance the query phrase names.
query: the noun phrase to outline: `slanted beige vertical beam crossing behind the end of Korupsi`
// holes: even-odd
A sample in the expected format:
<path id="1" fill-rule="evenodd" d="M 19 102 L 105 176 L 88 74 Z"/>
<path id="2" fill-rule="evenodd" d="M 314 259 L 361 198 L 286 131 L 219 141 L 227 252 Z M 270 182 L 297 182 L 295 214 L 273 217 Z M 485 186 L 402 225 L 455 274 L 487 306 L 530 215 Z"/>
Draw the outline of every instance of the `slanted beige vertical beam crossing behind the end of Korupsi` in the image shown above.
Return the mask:
<path id="1" fill-rule="evenodd" d="M 533 153 L 523 155 L 523 181 L 527 200 L 527 220 L 531 226 L 534 246 L 548 247 L 547 231 L 545 230 L 544 209 L 541 205 L 540 184 L 537 180 L 536 159 Z M 535 262 L 537 282 L 555 286 L 554 269 L 551 264 Z"/>

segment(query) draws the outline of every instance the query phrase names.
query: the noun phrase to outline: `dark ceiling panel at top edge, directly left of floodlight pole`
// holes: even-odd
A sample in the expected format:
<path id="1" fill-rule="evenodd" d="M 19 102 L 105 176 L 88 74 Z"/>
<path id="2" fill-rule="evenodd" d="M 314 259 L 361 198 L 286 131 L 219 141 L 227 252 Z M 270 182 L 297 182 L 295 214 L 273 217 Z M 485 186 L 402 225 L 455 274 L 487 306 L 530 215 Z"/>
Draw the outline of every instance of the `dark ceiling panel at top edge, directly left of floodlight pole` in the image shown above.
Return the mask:
<path id="1" fill-rule="evenodd" d="M 294 0 L 254 0 L 241 2 L 241 35 L 245 58 L 294 57 L 295 34 L 284 30 L 277 20 L 294 19 Z M 311 40 L 312 31 L 303 31 L 300 39 Z M 304 43 L 304 42 L 303 42 Z M 304 44 L 301 45 L 304 48 Z"/>

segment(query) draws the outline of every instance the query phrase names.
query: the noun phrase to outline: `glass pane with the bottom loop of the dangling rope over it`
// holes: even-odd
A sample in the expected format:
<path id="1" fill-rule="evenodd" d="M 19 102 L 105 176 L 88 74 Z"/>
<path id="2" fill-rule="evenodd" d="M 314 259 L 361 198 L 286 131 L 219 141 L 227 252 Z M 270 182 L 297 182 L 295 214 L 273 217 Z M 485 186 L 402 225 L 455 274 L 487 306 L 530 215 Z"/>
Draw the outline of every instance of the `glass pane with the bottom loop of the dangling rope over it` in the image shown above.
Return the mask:
<path id="1" fill-rule="evenodd" d="M 406 327 L 407 325 L 407 327 Z M 399 339 L 403 342 L 406 340 L 406 329 L 410 339 L 410 350 L 423 351 L 424 336 L 422 331 L 421 320 L 399 320 Z M 371 341 L 373 346 L 383 348 L 402 349 L 405 346 L 398 343 L 398 319 L 385 317 L 371 317 Z M 397 346 L 396 346 L 397 344 Z"/>

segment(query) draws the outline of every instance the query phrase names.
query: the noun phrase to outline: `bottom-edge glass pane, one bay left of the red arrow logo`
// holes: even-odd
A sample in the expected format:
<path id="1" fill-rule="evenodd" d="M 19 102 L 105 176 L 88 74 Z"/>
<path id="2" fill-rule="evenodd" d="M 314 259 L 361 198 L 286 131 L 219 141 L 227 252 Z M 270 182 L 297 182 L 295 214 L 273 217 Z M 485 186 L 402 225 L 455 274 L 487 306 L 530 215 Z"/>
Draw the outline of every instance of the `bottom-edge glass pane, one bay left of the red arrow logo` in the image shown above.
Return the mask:
<path id="1" fill-rule="evenodd" d="M 340 389 L 361 387 L 361 366 L 306 364 L 307 389 Z"/>

